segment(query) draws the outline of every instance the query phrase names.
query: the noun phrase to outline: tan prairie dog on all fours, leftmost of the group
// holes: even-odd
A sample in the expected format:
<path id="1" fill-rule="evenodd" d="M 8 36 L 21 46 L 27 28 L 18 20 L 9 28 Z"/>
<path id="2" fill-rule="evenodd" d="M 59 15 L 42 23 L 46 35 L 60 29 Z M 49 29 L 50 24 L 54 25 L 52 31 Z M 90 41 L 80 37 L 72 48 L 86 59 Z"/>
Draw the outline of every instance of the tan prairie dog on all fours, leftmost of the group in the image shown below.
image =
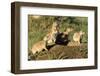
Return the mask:
<path id="1" fill-rule="evenodd" d="M 43 39 L 37 43 L 35 43 L 33 46 L 32 46 L 32 53 L 35 54 L 36 52 L 40 52 L 42 50 L 46 50 L 48 51 L 48 49 L 46 48 L 46 39 Z"/>

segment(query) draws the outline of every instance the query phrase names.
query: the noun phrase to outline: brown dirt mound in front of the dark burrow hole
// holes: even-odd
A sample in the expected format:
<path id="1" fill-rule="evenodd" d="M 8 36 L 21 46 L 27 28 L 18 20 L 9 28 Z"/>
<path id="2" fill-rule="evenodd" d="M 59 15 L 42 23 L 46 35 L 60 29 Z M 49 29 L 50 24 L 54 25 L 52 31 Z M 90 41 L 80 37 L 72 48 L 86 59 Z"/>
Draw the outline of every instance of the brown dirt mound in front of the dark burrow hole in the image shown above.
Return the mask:
<path id="1" fill-rule="evenodd" d="M 80 46 L 55 45 L 49 51 L 42 51 L 31 57 L 31 60 L 79 59 L 87 58 L 87 44 Z"/>

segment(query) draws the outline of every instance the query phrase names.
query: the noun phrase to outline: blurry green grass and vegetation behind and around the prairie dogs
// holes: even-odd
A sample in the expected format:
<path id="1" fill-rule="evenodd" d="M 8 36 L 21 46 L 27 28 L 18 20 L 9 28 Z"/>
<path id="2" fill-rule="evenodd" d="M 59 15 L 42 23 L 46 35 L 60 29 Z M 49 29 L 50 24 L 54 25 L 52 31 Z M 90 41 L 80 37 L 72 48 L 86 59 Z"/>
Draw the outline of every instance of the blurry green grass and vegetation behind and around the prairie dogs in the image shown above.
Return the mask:
<path id="1" fill-rule="evenodd" d="M 63 32 L 66 28 L 71 27 L 74 31 L 70 34 L 70 40 L 74 32 L 84 31 L 85 35 L 82 38 L 83 43 L 88 42 L 88 18 L 87 17 L 71 17 L 71 16 L 38 16 L 28 15 L 28 48 L 30 49 L 34 43 L 43 39 L 43 37 L 50 31 L 53 22 L 57 22 L 60 26 L 60 31 Z M 40 52 L 41 53 L 41 52 Z M 43 51 L 42 54 L 46 52 Z M 31 55 L 29 51 L 29 55 Z M 39 54 L 40 55 L 40 54 Z M 56 57 L 61 58 L 63 53 Z M 36 55 L 37 56 L 37 55 Z M 50 54 L 49 59 L 54 58 Z M 34 58 L 33 58 L 34 59 Z"/>

